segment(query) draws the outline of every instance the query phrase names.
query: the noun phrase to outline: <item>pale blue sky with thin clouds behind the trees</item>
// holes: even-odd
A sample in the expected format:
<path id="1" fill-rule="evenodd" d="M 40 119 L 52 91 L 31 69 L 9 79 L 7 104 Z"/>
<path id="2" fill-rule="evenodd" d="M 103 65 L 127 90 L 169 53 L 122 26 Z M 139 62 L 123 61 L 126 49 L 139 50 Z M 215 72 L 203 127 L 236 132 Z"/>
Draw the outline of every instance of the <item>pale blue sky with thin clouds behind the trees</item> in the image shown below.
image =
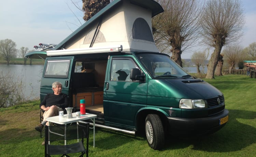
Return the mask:
<path id="1" fill-rule="evenodd" d="M 58 44 L 84 23 L 83 12 L 72 4 L 82 0 L 0 0 L 0 40 L 11 39 L 16 48 L 35 50 L 39 43 Z M 244 35 L 241 46 L 256 42 L 256 1 L 241 0 L 245 14 Z M 76 16 L 75 16 L 76 15 Z M 191 58 L 194 51 L 187 49 L 183 59 Z"/>

